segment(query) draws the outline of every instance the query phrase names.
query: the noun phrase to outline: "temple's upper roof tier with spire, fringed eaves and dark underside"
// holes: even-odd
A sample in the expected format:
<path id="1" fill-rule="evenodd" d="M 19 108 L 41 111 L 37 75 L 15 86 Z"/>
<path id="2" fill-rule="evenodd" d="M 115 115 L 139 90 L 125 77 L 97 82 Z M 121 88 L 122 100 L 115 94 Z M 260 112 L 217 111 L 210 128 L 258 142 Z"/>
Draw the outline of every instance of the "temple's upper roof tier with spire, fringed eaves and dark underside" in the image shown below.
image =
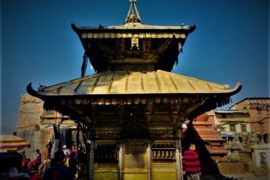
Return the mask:
<path id="1" fill-rule="evenodd" d="M 185 41 L 196 25 L 157 26 L 141 23 L 135 1 L 122 25 L 96 27 L 76 26 L 85 50 L 82 77 L 89 58 L 97 72 L 112 71 L 171 71 L 178 63 Z M 140 66 L 143 65 L 143 66 Z"/>

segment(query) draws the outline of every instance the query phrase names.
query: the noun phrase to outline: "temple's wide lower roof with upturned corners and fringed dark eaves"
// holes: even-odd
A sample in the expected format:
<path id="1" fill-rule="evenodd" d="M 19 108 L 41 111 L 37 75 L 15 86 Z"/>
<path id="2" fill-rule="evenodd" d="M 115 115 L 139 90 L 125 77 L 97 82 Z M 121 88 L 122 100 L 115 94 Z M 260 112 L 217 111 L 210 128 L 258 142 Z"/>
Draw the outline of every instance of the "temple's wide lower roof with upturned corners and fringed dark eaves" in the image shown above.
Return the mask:
<path id="1" fill-rule="evenodd" d="M 57 106 L 186 103 L 183 113 L 190 118 L 230 102 L 230 96 L 242 88 L 207 82 L 166 71 L 106 71 L 68 82 L 39 88 L 28 84 L 27 92 Z M 54 102 L 54 103 L 51 103 Z M 181 113 L 181 112 L 179 112 Z"/>

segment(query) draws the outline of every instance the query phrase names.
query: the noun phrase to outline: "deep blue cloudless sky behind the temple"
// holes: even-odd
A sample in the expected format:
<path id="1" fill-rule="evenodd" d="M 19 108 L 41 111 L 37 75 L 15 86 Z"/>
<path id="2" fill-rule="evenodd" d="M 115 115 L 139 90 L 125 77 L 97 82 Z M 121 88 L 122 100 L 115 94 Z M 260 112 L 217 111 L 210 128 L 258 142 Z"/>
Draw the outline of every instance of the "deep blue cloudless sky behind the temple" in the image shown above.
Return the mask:
<path id="1" fill-rule="evenodd" d="M 197 25 L 173 73 L 233 88 L 232 97 L 269 96 L 269 3 L 267 0 L 138 0 L 142 22 Z M 83 48 L 71 29 L 122 24 L 128 0 L 1 1 L 2 130 L 16 130 L 26 85 L 49 86 L 80 77 Z M 88 70 L 86 75 L 93 74 Z M 230 104 L 232 105 L 232 104 Z M 227 105 L 224 108 L 228 108 Z"/>

